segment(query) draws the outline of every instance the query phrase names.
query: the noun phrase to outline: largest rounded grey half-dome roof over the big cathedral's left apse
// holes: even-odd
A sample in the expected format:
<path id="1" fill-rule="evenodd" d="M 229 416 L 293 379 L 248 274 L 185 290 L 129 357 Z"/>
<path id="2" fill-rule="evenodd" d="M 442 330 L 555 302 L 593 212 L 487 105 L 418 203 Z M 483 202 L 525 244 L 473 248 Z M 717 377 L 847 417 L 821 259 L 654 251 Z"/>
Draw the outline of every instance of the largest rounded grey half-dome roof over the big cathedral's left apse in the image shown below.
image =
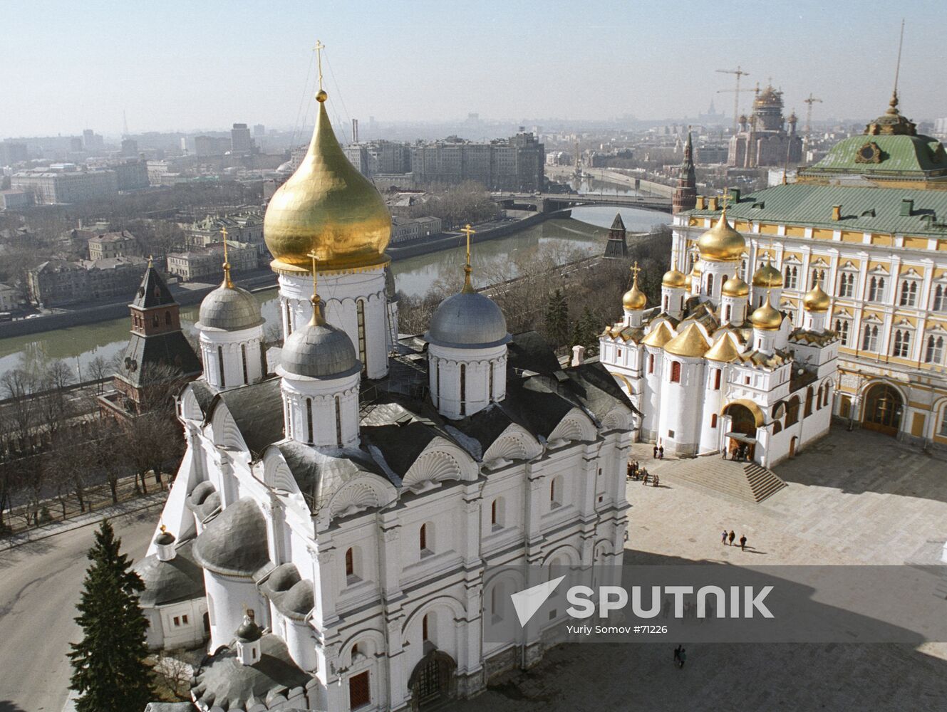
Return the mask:
<path id="1" fill-rule="evenodd" d="M 251 577 L 269 561 L 266 520 L 249 498 L 234 502 L 194 540 L 194 561 L 223 576 Z"/>

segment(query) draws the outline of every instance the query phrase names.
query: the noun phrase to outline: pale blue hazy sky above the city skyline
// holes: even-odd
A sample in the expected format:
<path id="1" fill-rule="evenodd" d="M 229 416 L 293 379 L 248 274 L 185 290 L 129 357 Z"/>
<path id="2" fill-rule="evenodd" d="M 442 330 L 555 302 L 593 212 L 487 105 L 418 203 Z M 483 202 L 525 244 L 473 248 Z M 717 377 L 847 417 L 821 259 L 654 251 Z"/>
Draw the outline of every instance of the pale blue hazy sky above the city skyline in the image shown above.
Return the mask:
<path id="1" fill-rule="evenodd" d="M 884 111 L 906 19 L 900 94 L 947 116 L 942 0 L 0 2 L 0 137 L 293 128 L 315 40 L 331 112 L 366 121 L 732 113 L 738 64 L 815 116 Z M 329 67 L 331 66 L 331 70 Z M 336 88 L 338 86 L 338 89 Z M 341 91 L 340 91 L 341 90 Z M 752 95 L 742 95 L 742 106 Z M 344 105 L 343 105 L 344 104 Z"/>

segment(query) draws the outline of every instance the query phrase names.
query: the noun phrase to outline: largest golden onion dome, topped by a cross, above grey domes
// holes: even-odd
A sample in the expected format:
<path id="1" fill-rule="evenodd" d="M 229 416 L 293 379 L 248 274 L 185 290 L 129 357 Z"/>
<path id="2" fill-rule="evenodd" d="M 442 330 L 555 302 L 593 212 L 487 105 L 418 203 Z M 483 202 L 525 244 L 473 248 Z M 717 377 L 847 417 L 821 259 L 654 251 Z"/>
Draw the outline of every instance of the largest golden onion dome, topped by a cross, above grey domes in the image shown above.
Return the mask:
<path id="1" fill-rule="evenodd" d="M 273 268 L 309 272 L 314 253 L 320 272 L 384 265 L 391 215 L 378 190 L 342 151 L 329 115 L 326 93 L 319 101 L 313 140 L 295 173 L 279 187 L 263 219 Z"/>

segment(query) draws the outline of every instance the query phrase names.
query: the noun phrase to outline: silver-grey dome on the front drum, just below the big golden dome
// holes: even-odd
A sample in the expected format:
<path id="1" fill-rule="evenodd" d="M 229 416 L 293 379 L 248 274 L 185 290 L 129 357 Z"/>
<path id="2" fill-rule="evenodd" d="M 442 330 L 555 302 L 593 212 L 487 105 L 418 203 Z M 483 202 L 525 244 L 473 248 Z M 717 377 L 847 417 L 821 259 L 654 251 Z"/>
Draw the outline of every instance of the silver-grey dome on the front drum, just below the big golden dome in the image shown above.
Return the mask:
<path id="1" fill-rule="evenodd" d="M 296 329 L 283 345 L 282 370 L 309 378 L 342 378 L 358 373 L 362 364 L 342 329 L 310 322 Z"/>

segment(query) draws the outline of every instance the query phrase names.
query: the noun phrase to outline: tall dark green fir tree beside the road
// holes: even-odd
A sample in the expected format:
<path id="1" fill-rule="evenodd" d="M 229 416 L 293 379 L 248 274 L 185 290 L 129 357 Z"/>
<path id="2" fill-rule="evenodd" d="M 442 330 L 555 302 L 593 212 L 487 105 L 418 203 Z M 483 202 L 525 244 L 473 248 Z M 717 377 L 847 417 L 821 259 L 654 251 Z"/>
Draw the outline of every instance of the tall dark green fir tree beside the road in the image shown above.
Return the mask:
<path id="1" fill-rule="evenodd" d="M 79 693 L 79 712 L 138 712 L 153 700 L 152 671 L 145 664 L 148 620 L 138 605 L 145 584 L 120 547 L 112 525 L 103 521 L 76 606 L 82 640 L 69 653 L 69 686 Z"/>

